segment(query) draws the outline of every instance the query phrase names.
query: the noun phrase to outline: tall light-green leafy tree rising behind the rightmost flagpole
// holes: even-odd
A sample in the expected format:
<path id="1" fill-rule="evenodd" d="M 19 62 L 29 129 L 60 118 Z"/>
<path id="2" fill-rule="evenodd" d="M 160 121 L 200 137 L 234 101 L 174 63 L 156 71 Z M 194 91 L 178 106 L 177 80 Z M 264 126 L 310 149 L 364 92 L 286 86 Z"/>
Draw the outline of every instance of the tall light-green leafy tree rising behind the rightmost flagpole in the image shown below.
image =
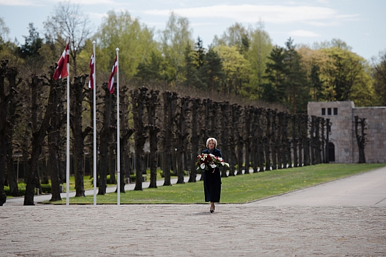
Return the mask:
<path id="1" fill-rule="evenodd" d="M 128 11 L 116 13 L 110 10 L 94 36 L 98 48 L 98 51 L 95 49 L 98 70 L 106 74 L 111 72 L 116 47 L 124 49 L 119 52 L 120 75 L 134 77 L 139 63 L 157 63 L 157 57 L 151 57 L 152 52 L 157 55 L 157 42 L 153 40 L 153 36 L 153 29 L 132 17 Z M 88 42 L 86 51 L 82 53 L 82 58 L 87 63 L 91 53 L 92 45 Z"/>

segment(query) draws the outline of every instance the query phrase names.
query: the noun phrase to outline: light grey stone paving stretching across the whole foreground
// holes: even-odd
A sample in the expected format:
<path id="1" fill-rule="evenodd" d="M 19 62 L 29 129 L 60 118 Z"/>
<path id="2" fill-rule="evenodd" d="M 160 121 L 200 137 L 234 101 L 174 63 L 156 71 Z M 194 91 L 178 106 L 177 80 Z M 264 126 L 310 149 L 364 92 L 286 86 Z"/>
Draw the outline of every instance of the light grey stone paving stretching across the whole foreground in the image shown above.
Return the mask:
<path id="1" fill-rule="evenodd" d="M 386 206 L 36 205 L 0 210 L 0 256 L 386 256 Z"/>

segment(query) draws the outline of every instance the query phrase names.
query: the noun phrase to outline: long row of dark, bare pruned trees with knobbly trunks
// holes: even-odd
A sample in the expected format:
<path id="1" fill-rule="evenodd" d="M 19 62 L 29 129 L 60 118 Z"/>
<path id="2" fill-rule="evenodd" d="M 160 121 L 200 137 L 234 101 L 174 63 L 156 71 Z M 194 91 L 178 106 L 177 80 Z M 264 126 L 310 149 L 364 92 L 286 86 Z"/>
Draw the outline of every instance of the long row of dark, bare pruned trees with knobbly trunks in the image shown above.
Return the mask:
<path id="1" fill-rule="evenodd" d="M 24 205 L 33 205 L 33 195 L 41 188 L 41 160 L 47 159 L 46 156 L 52 201 L 60 200 L 65 169 L 63 103 L 66 81 L 52 79 L 54 68 L 49 70 L 49 76 L 31 75 L 24 83 L 17 80 L 17 71 L 7 68 L 6 62 L 1 72 L 0 190 L 7 184 L 12 194 L 18 194 L 12 146 L 18 141 L 13 127 L 19 118 L 27 121 L 26 126 L 21 126 L 22 143 L 16 144 L 23 159 L 28 159 Z M 76 76 L 70 81 L 70 169 L 75 175 L 76 196 L 84 196 L 86 152 L 88 168 L 92 170 L 92 127 L 84 125 L 92 123 L 82 120 L 84 114 L 92 110 L 86 77 Z M 17 99 L 18 85 L 22 85 L 26 95 L 23 100 Z M 149 170 L 153 188 L 157 187 L 157 172 L 162 173 L 164 185 L 171 185 L 171 176 L 176 176 L 178 183 L 184 183 L 185 176 L 189 176 L 189 182 L 196 182 L 196 156 L 206 148 L 208 137 L 218 140 L 218 148 L 230 164 L 229 169 L 222 168 L 223 178 L 328 162 L 326 144 L 330 120 L 229 101 L 180 96 L 171 91 L 160 93 L 145 86 L 132 88 L 128 84 L 122 86 L 121 138 L 116 139 L 116 93 L 109 93 L 106 83 L 97 92 L 98 176 L 93 179 L 98 182 L 98 194 L 106 194 L 107 184 L 116 183 L 116 165 L 121 168 L 121 192 L 125 192 L 125 178 L 130 182 L 135 180 L 135 190 L 142 190 L 146 170 Z M 87 102 L 89 108 L 85 105 Z M 358 137 L 359 142 L 364 142 L 361 137 Z M 121 143 L 120 153 L 116 152 L 117 140 Z M 116 164 L 117 154 L 121 155 L 120 164 Z M 134 176 L 130 176 L 133 173 Z M 0 196 L 3 204 L 5 193 L 0 192 Z"/>

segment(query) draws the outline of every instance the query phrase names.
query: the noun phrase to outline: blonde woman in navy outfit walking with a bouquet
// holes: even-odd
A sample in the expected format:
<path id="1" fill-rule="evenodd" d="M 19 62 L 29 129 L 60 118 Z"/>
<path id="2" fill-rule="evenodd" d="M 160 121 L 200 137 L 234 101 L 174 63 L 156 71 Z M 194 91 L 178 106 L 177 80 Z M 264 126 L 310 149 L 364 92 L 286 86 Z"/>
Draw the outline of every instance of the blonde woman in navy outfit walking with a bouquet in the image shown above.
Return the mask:
<path id="1" fill-rule="evenodd" d="M 217 157 L 222 157 L 221 151 L 217 149 L 217 140 L 213 137 L 206 140 L 206 149 L 202 153 L 211 153 Z M 210 202 L 210 212 L 215 212 L 215 203 L 219 203 L 221 195 L 219 168 L 208 169 L 203 172 L 203 192 L 205 193 L 205 201 Z"/>

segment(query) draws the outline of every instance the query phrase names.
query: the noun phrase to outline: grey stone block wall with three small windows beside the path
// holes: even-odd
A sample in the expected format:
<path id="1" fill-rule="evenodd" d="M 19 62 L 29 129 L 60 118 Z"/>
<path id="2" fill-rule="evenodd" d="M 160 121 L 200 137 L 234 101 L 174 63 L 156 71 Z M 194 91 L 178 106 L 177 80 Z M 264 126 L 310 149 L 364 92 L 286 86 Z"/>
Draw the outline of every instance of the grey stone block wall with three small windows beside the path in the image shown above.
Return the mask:
<path id="1" fill-rule="evenodd" d="M 324 109 L 324 110 L 323 110 Z M 355 116 L 366 118 L 364 155 L 367 163 L 386 162 L 386 107 L 357 107 L 346 102 L 309 102 L 308 115 L 330 118 L 330 142 L 334 144 L 335 162 L 359 161 L 355 137 Z"/>

